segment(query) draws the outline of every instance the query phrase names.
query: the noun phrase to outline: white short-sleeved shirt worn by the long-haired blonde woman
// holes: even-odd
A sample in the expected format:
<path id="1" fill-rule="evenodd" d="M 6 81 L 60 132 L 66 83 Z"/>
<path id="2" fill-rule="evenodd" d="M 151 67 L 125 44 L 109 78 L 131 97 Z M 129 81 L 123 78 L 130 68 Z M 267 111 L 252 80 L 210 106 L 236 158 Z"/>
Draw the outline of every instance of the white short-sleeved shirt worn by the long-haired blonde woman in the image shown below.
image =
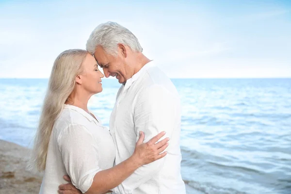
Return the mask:
<path id="1" fill-rule="evenodd" d="M 98 121 L 81 108 L 65 105 L 50 136 L 40 194 L 57 194 L 58 186 L 67 183 L 66 174 L 85 193 L 97 172 L 113 167 L 114 143 Z"/>

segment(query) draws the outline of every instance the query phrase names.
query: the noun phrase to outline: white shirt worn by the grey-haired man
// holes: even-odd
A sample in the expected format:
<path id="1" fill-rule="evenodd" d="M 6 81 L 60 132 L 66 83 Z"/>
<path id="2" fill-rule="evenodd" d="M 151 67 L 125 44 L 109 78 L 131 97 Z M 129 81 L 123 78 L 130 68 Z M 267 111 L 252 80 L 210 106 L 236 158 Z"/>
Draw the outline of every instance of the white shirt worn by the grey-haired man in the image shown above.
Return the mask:
<path id="1" fill-rule="evenodd" d="M 115 164 L 132 155 L 139 131 L 145 132 L 145 142 L 166 131 L 168 154 L 138 168 L 114 193 L 186 194 L 180 174 L 180 124 L 180 99 L 174 84 L 153 62 L 146 64 L 120 87 L 116 97 L 110 117 Z"/>

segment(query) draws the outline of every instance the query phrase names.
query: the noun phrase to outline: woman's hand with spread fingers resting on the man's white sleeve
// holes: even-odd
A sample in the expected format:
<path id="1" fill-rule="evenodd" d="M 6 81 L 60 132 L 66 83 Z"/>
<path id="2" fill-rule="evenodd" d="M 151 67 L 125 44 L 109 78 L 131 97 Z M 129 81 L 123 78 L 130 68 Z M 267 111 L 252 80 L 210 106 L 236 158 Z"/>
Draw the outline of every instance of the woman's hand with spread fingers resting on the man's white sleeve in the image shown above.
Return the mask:
<path id="1" fill-rule="evenodd" d="M 143 143 L 145 139 L 145 133 L 140 131 L 140 137 L 131 156 L 134 158 L 134 161 L 139 164 L 139 166 L 154 162 L 166 156 L 167 152 L 163 151 L 167 148 L 167 146 L 169 146 L 168 141 L 170 138 L 165 138 L 158 142 L 165 134 L 166 132 L 162 131 L 148 142 Z"/>

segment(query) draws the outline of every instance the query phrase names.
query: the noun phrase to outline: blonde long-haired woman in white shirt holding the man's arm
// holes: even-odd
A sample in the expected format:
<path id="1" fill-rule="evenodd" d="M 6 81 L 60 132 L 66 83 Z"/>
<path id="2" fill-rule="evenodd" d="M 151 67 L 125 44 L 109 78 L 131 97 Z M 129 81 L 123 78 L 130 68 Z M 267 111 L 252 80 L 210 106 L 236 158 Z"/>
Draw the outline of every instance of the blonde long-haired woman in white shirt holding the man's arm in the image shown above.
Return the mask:
<path id="1" fill-rule="evenodd" d="M 66 50 L 55 60 L 30 161 L 31 169 L 44 171 L 40 194 L 57 193 L 65 174 L 82 193 L 110 192 L 137 168 L 167 154 L 169 139 L 158 142 L 164 132 L 147 143 L 141 132 L 132 156 L 113 167 L 110 132 L 87 108 L 90 97 L 102 91 L 103 77 L 86 50 Z"/>

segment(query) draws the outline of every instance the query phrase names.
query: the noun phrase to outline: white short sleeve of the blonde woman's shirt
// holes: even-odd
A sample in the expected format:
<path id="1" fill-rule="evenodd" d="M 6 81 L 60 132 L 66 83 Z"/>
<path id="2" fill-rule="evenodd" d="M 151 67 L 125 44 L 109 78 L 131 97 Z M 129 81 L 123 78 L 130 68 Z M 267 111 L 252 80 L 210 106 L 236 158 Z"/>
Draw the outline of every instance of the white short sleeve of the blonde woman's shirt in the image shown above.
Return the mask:
<path id="1" fill-rule="evenodd" d="M 65 170 L 82 193 L 91 187 L 94 176 L 101 171 L 96 145 L 93 135 L 82 125 L 69 125 L 58 137 Z"/>

